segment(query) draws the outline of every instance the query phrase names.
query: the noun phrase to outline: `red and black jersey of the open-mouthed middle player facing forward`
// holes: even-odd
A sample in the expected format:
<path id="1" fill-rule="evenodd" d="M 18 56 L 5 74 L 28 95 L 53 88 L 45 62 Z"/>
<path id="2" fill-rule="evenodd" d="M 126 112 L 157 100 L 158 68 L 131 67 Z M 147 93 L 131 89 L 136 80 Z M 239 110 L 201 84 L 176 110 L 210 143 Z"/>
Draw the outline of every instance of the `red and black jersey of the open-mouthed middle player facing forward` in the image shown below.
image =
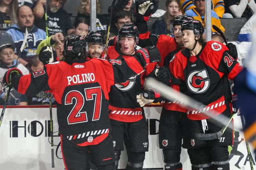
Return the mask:
<path id="1" fill-rule="evenodd" d="M 130 57 L 122 54 L 118 45 L 108 48 L 107 58 L 110 62 Z M 151 75 L 155 67 L 156 63 L 149 63 L 142 74 L 111 87 L 109 118 L 122 122 L 137 122 L 143 118 L 143 108 L 137 103 L 136 95 L 144 90 L 145 77 Z"/>

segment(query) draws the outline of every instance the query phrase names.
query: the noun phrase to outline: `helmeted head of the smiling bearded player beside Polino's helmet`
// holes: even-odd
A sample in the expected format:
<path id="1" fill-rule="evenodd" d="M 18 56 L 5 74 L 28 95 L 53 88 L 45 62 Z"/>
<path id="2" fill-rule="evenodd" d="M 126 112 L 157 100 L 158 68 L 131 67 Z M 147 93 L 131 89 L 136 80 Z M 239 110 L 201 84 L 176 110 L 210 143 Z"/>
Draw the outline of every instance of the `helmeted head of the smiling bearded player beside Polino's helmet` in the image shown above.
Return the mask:
<path id="1" fill-rule="evenodd" d="M 100 58 L 105 50 L 105 39 L 102 33 L 90 31 L 86 37 L 87 55 L 90 58 Z"/>

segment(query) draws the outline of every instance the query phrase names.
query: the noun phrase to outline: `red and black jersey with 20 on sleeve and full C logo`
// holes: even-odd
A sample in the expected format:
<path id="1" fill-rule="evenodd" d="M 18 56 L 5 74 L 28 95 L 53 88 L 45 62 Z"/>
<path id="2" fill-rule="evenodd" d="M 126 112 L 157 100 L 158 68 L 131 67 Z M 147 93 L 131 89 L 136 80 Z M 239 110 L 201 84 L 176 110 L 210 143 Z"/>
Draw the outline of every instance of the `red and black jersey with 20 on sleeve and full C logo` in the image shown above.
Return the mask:
<path id="1" fill-rule="evenodd" d="M 230 56 L 228 48 L 216 41 L 203 43 L 201 52 L 190 56 L 188 49 L 179 51 L 173 56 L 169 67 L 173 83 L 186 83 L 181 92 L 205 104 L 204 110 L 216 110 L 230 115 L 231 91 L 228 79 L 233 79 L 240 71 L 239 63 Z M 191 110 L 188 118 L 202 120 L 209 117 L 201 114 L 202 110 Z"/>

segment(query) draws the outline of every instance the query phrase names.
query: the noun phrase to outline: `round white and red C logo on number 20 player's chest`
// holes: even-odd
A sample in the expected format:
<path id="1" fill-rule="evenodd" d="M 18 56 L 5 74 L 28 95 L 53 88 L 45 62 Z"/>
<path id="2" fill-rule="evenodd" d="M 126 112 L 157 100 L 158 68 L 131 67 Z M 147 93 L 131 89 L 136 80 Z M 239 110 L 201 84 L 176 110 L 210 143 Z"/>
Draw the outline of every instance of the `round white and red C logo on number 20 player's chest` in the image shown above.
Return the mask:
<path id="1" fill-rule="evenodd" d="M 187 81 L 190 91 L 196 94 L 205 92 L 210 86 L 207 70 L 195 70 L 188 75 Z"/>

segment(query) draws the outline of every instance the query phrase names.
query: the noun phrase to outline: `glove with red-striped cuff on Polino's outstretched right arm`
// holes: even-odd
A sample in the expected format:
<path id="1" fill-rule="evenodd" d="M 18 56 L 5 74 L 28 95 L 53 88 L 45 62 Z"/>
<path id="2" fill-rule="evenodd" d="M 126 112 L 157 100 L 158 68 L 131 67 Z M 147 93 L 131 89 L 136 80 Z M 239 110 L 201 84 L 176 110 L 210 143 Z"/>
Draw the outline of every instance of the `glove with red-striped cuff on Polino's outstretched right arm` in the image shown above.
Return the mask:
<path id="1" fill-rule="evenodd" d="M 135 56 L 138 56 L 141 64 L 145 67 L 150 62 L 160 62 L 161 57 L 158 49 L 155 46 L 149 46 L 140 48 L 135 52 Z"/>

